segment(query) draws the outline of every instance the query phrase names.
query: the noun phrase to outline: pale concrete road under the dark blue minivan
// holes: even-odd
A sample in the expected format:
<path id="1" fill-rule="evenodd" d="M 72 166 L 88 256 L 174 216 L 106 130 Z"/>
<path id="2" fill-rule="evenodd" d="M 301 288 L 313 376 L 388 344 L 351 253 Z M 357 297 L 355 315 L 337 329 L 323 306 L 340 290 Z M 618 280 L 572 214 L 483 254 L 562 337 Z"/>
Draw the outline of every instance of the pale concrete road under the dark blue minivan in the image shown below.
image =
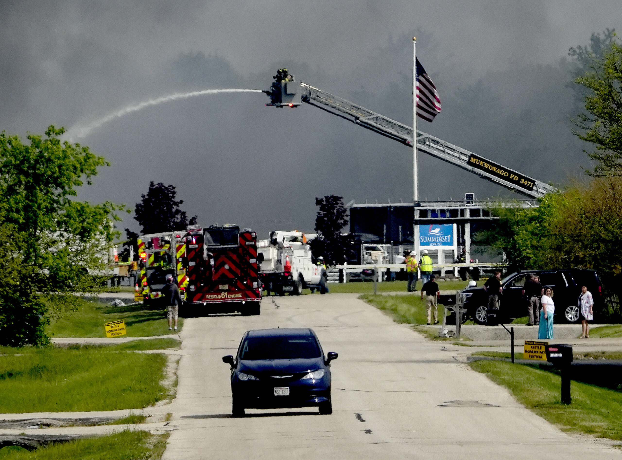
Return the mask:
<path id="1" fill-rule="evenodd" d="M 622 459 L 572 437 L 356 294 L 266 298 L 261 316 L 188 319 L 164 459 Z M 231 418 L 230 371 L 244 331 L 312 327 L 332 364 L 333 414 L 247 410 Z"/>

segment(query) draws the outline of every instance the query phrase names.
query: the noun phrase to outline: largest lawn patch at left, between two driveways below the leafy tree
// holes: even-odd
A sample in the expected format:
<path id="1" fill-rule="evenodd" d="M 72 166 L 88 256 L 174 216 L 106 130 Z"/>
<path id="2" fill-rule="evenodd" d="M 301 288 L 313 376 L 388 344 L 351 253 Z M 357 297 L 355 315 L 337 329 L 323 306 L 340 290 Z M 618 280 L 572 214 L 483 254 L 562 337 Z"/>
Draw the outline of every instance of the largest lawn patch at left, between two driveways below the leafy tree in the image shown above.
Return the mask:
<path id="1" fill-rule="evenodd" d="M 10 351 L 10 354 L 8 352 Z M 106 349 L 2 349 L 0 413 L 143 408 L 169 396 L 167 357 Z"/>

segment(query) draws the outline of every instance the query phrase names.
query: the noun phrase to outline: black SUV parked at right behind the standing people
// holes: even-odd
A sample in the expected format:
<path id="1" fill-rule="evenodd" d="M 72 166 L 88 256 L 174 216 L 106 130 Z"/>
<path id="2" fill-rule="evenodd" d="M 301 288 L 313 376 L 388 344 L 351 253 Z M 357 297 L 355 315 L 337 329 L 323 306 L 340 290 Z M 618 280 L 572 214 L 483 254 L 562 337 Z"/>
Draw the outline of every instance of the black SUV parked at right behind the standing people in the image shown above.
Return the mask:
<path id="1" fill-rule="evenodd" d="M 594 319 L 604 304 L 603 287 L 598 274 L 593 270 L 524 270 L 501 279 L 503 294 L 499 306 L 499 322 L 510 322 L 513 318 L 527 316 L 526 301 L 522 289 L 527 275 L 540 276 L 543 288 L 553 289 L 555 303 L 554 322 L 578 322 L 578 296 L 581 286 L 594 298 Z M 486 324 L 488 293 L 484 288 L 466 288 L 458 301 L 466 308 L 466 317 L 471 317 L 477 324 Z"/>

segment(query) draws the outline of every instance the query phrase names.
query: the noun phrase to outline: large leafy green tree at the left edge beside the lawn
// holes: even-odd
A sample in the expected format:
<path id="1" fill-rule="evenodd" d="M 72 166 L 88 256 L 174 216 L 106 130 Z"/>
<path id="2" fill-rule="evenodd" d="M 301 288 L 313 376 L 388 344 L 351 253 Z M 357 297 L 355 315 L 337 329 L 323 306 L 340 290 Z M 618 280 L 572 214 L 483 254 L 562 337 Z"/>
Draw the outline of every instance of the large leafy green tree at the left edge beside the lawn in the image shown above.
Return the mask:
<path id="1" fill-rule="evenodd" d="M 45 321 L 55 309 L 75 307 L 75 293 L 99 289 L 122 206 L 75 200 L 108 166 L 86 146 L 0 134 L 0 344 L 45 344 Z"/>

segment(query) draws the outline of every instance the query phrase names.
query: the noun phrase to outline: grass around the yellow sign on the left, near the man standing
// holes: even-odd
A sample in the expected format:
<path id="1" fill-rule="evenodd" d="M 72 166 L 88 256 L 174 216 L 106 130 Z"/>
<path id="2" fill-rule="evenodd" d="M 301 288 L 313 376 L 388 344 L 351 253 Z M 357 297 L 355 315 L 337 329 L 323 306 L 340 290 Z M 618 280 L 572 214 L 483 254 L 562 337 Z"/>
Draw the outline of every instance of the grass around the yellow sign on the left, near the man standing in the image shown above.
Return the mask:
<path id="1" fill-rule="evenodd" d="M 47 328 L 53 337 L 106 337 L 104 323 L 123 319 L 129 337 L 164 336 L 170 334 L 164 310 L 146 310 L 142 304 L 109 306 L 83 300 L 77 311 L 63 312 L 60 319 L 52 319 Z M 179 318 L 178 331 L 183 327 Z"/>

